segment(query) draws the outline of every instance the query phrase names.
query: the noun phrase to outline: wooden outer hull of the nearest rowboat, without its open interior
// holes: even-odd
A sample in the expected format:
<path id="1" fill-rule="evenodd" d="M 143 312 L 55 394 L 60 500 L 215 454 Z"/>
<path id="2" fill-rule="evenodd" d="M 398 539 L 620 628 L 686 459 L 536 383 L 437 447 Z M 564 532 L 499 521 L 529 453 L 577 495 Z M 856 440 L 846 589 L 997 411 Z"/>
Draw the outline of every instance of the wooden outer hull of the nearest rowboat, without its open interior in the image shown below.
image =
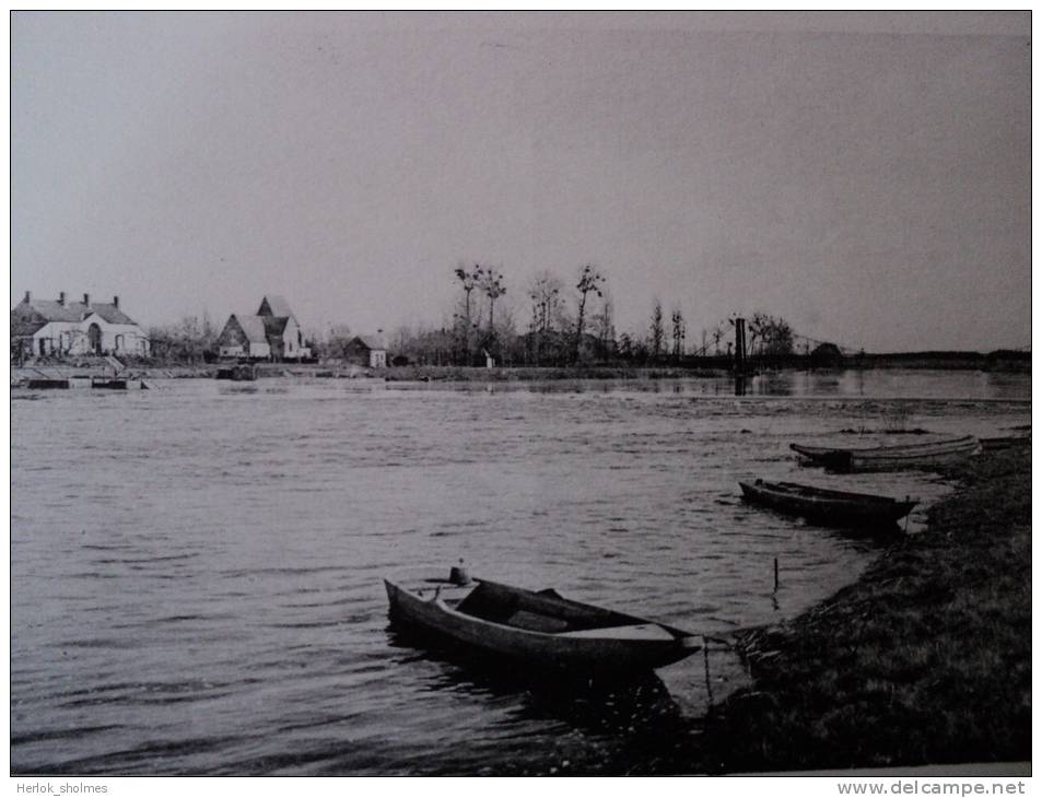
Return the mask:
<path id="1" fill-rule="evenodd" d="M 588 676 L 632 674 L 676 662 L 701 649 L 700 637 L 644 619 L 620 617 L 659 630 L 658 639 L 611 638 L 598 636 L 597 630 L 571 635 L 551 634 L 475 618 L 454 610 L 441 598 L 420 597 L 386 579 L 384 584 L 390 618 L 396 624 L 540 670 Z M 599 609 L 578 602 L 569 603 Z"/>

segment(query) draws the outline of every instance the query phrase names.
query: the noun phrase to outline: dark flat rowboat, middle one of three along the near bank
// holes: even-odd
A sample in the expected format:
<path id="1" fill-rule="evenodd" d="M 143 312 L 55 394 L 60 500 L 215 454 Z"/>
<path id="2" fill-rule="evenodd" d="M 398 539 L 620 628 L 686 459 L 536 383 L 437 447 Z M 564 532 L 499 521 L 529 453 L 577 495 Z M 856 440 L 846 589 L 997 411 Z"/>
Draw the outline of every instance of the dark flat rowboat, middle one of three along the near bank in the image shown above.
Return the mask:
<path id="1" fill-rule="evenodd" d="M 739 482 L 746 500 L 783 513 L 823 524 L 865 527 L 889 526 L 912 512 L 918 502 L 899 501 L 871 493 L 832 491 L 795 482 Z"/>

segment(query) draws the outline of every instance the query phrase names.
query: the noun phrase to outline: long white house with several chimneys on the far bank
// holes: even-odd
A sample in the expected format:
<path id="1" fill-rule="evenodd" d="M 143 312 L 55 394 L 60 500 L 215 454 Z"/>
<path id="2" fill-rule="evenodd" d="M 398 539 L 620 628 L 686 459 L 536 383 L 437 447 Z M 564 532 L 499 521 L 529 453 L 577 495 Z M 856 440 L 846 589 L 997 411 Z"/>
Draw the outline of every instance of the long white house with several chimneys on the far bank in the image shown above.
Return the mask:
<path id="1" fill-rule="evenodd" d="M 83 354 L 149 355 L 144 331 L 112 302 L 69 302 L 66 293 L 57 300 L 25 297 L 11 310 L 11 352 L 20 357 Z"/>

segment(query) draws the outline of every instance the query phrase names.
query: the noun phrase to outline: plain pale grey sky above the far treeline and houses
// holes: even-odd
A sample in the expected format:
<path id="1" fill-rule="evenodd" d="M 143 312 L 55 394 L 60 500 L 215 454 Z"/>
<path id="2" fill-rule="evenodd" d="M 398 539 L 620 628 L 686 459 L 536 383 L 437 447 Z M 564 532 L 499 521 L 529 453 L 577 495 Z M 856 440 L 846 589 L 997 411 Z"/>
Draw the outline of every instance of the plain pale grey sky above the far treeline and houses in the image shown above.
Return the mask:
<path id="1" fill-rule="evenodd" d="M 460 263 L 618 331 L 1031 337 L 1028 12 L 13 12 L 11 302 L 441 326 Z"/>

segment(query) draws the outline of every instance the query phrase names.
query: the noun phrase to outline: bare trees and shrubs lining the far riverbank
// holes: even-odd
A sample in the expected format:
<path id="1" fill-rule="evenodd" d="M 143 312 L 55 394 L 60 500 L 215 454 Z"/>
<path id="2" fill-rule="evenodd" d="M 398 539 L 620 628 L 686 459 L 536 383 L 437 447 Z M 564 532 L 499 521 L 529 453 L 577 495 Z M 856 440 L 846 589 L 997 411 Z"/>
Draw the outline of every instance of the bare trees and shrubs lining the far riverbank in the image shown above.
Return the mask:
<path id="1" fill-rule="evenodd" d="M 459 266 L 453 274 L 458 294 L 441 324 L 402 326 L 382 335 L 388 364 L 572 366 L 730 360 L 734 318 L 702 328 L 698 340 L 689 341 L 679 304 L 667 315 L 657 298 L 644 329 L 619 333 L 610 285 L 592 263 L 582 266 L 574 281 L 542 271 L 518 287 L 508 286 L 501 271 L 480 263 Z M 323 331 L 305 324 L 304 329 L 305 347 L 323 361 L 346 357 L 355 336 L 347 324 Z M 153 359 L 178 363 L 215 360 L 219 335 L 220 328 L 207 315 L 149 331 Z M 765 313 L 747 319 L 746 341 L 749 354 L 757 356 L 810 351 L 807 342 L 797 353 L 788 322 Z"/>

